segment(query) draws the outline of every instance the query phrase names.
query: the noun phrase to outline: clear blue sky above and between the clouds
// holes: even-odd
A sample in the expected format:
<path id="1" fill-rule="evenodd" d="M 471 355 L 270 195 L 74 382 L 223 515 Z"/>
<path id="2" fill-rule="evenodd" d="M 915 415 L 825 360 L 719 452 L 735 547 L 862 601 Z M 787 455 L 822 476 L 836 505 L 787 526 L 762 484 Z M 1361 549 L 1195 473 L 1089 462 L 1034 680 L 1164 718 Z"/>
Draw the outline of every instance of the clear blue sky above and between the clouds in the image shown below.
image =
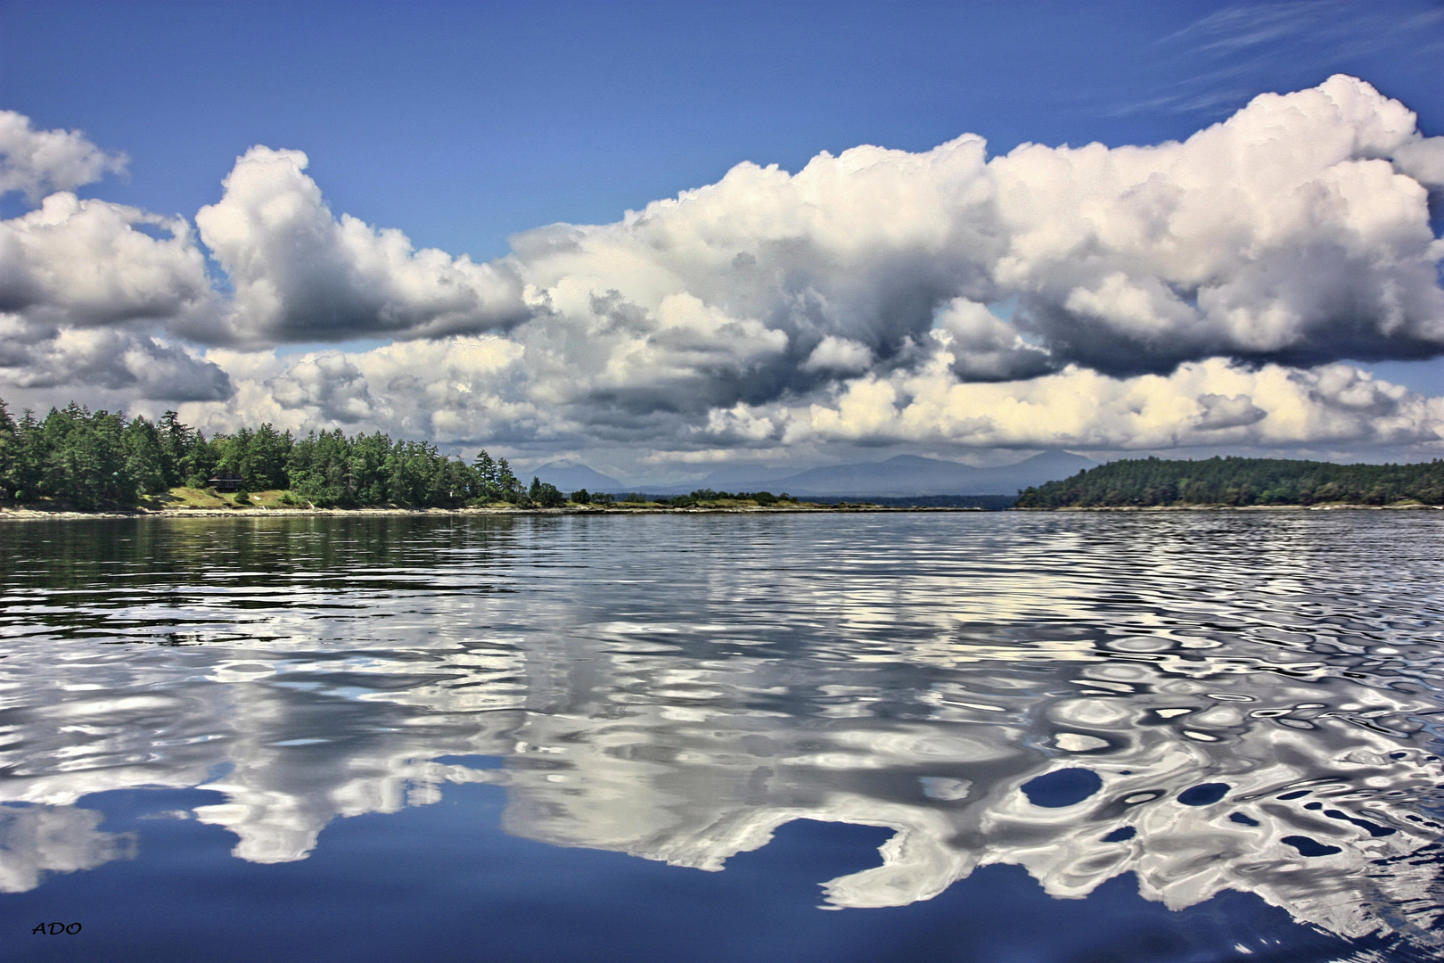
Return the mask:
<path id="1" fill-rule="evenodd" d="M 1437 1 L 0 4 L 0 107 L 129 157 L 81 198 L 193 219 L 250 147 L 295 149 L 338 217 L 478 263 L 517 232 L 614 222 L 739 162 L 797 172 L 825 150 L 920 153 L 963 133 L 989 156 L 1157 144 L 1340 72 L 1437 136 L 1440 62 Z M 29 206 L 10 193 L 0 212 Z M 209 277 L 230 292 L 215 261 Z M 269 349 L 388 339 L 336 329 Z M 1444 394 L 1438 362 L 1366 361 Z"/>

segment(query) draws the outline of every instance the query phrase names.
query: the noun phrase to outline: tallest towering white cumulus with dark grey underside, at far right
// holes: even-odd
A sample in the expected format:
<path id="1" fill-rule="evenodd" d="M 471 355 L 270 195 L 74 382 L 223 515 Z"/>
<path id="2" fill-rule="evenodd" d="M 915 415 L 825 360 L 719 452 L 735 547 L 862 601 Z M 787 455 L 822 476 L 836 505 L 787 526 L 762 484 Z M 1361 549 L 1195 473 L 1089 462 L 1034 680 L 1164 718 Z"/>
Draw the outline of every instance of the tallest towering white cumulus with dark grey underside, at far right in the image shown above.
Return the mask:
<path id="1" fill-rule="evenodd" d="M 1183 143 L 1025 144 L 989 167 L 1008 238 L 993 279 L 1067 361 L 1136 372 L 1444 351 L 1428 214 L 1444 139 L 1362 81 L 1261 95 Z"/>

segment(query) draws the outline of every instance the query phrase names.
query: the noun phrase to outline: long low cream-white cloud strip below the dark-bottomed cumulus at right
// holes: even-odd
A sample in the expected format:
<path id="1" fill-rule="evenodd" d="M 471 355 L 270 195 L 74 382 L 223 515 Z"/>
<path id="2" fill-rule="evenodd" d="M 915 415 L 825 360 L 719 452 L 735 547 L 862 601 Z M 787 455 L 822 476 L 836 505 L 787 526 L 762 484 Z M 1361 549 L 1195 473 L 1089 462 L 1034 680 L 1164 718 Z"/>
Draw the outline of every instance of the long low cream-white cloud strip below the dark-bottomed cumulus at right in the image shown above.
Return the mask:
<path id="1" fill-rule="evenodd" d="M 1444 398 L 1353 365 L 1252 368 L 1190 361 L 1118 378 L 1070 365 L 1011 383 L 962 383 L 941 352 L 921 371 L 864 375 L 810 404 L 738 410 L 787 443 L 962 443 L 978 448 L 1138 449 L 1200 445 L 1418 445 L 1444 439 Z M 726 419 L 715 422 L 726 430 Z"/>

